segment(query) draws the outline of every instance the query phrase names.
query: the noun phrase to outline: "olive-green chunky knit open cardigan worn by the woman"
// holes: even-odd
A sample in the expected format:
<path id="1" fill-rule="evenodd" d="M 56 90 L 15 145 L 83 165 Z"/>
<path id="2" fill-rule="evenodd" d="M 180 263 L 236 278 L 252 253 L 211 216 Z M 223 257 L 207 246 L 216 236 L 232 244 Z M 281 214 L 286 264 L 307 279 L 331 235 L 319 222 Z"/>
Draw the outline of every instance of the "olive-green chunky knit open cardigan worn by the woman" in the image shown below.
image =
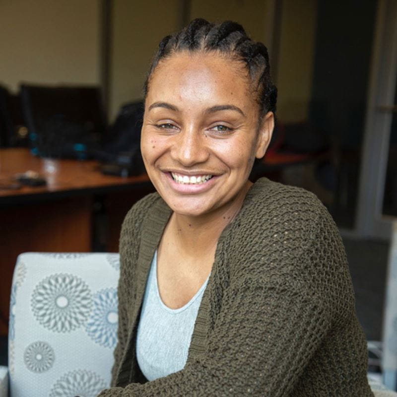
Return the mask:
<path id="1" fill-rule="evenodd" d="M 100 397 L 373 396 L 336 225 L 313 194 L 265 178 L 218 240 L 185 368 L 147 382 L 136 331 L 170 215 L 155 193 L 123 223 L 113 387 Z"/>

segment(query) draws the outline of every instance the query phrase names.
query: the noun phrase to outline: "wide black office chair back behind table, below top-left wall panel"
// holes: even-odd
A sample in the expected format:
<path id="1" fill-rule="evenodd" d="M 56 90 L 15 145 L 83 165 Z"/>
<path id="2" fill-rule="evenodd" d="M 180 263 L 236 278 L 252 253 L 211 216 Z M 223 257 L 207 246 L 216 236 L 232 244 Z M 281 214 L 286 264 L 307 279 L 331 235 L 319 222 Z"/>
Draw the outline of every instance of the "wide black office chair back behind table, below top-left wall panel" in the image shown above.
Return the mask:
<path id="1" fill-rule="evenodd" d="M 107 129 L 97 86 L 21 85 L 32 152 L 50 157 L 94 157 Z"/>

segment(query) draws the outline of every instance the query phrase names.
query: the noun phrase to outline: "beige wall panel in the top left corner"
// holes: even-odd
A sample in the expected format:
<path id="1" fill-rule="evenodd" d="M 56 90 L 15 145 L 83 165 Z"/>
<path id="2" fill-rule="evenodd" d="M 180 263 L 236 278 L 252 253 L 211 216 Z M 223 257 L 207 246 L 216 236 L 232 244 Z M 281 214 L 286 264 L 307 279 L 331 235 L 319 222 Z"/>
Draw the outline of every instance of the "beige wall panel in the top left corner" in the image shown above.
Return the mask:
<path id="1" fill-rule="evenodd" d="M 0 0 L 0 83 L 100 83 L 100 0 Z"/>

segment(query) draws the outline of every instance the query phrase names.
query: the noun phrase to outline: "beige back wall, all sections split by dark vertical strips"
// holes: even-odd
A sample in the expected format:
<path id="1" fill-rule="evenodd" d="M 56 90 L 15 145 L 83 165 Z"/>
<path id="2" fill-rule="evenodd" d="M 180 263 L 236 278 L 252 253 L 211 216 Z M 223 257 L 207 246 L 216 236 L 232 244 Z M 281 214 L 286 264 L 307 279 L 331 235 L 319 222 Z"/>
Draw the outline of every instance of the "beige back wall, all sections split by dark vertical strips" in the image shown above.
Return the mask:
<path id="1" fill-rule="evenodd" d="M 242 23 L 267 43 L 269 1 L 192 0 L 190 19 Z M 100 0 L 0 0 L 0 83 L 16 91 L 32 83 L 99 84 Z M 315 0 L 284 0 L 277 86 L 278 116 L 307 117 L 316 29 Z M 110 61 L 110 117 L 142 97 L 158 42 L 180 28 L 180 0 L 114 0 Z M 291 67 L 294 65 L 294 67 Z"/>

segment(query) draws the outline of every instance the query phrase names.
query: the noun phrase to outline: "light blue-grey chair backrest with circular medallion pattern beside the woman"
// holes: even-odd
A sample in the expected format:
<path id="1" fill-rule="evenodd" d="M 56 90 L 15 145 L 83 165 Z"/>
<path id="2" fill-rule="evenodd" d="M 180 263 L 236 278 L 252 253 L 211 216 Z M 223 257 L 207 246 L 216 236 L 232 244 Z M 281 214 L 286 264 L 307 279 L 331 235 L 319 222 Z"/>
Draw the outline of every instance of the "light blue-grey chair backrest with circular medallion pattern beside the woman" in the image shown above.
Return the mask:
<path id="1" fill-rule="evenodd" d="M 12 281 L 11 397 L 94 397 L 110 384 L 119 255 L 25 253 Z"/>

